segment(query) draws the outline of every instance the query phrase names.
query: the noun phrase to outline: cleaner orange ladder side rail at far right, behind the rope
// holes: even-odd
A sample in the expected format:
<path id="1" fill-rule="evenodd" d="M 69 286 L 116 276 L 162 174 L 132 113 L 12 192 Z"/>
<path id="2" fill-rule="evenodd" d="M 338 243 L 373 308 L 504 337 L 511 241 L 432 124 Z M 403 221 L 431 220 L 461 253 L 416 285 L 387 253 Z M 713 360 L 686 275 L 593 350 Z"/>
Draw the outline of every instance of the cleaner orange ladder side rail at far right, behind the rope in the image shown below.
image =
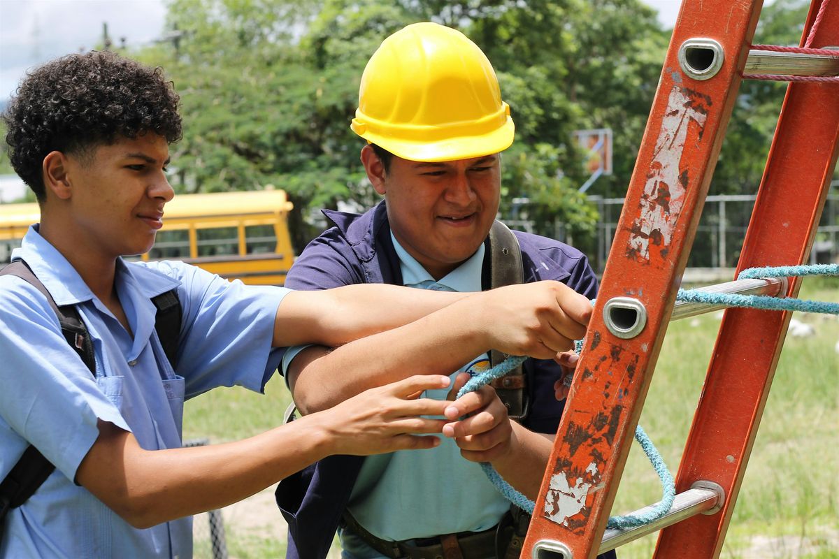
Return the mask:
<path id="1" fill-rule="evenodd" d="M 805 37 L 817 7 L 816 0 Z M 839 44 L 839 10 L 827 11 L 815 44 Z M 839 155 L 836 99 L 836 84 L 789 84 L 737 272 L 808 261 Z M 800 278 L 793 278 L 788 296 L 797 296 L 799 288 Z M 698 479 L 709 480 L 722 485 L 727 499 L 717 515 L 698 515 L 665 528 L 655 557 L 720 556 L 789 318 L 789 312 L 726 311 L 685 444 L 676 490 L 685 490 Z"/>

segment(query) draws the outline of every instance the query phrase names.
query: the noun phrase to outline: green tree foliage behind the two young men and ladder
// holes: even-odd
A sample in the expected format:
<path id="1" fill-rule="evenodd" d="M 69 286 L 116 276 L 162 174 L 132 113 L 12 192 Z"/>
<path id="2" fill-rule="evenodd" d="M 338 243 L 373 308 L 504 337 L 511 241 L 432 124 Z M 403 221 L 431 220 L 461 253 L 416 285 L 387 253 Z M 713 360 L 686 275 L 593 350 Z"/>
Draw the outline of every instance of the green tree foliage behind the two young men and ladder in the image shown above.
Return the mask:
<path id="1" fill-rule="evenodd" d="M 798 6 L 766 8 L 758 34 L 795 44 Z M 172 0 L 171 40 L 138 55 L 163 65 L 182 96 L 176 189 L 285 189 L 298 251 L 317 232 L 317 209 L 372 205 L 363 141 L 349 129 L 359 80 L 384 37 L 424 20 L 460 28 L 498 73 L 516 122 L 502 159 L 503 216 L 526 216 L 547 235 L 557 222 L 576 239 L 591 231 L 597 215 L 577 192 L 587 175 L 572 134 L 612 128 L 614 173 L 589 193 L 622 196 L 669 40 L 640 0 Z M 748 184 L 762 167 L 752 152 L 771 135 L 767 105 L 780 87 L 744 85 L 721 184 Z"/>

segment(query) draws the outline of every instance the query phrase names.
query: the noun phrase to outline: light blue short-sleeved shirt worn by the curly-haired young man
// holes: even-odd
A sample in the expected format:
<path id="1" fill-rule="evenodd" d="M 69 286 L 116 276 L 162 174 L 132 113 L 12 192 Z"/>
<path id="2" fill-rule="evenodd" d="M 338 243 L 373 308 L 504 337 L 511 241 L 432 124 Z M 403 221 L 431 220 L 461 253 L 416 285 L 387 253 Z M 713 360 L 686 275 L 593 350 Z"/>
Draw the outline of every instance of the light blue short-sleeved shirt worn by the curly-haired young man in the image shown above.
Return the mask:
<path id="1" fill-rule="evenodd" d="M 191 557 L 190 518 L 135 529 L 74 484 L 76 470 L 99 419 L 133 432 L 147 450 L 179 448 L 185 398 L 216 386 L 262 391 L 279 362 L 274 317 L 289 290 L 227 282 L 181 262 L 120 260 L 115 284 L 132 337 L 37 227 L 13 252 L 18 258 L 57 304 L 76 305 L 93 340 L 96 378 L 46 298 L 18 277 L 0 277 L 0 478 L 30 443 L 55 464 L 9 512 L 0 557 Z M 177 373 L 150 301 L 175 287 L 183 308 Z"/>

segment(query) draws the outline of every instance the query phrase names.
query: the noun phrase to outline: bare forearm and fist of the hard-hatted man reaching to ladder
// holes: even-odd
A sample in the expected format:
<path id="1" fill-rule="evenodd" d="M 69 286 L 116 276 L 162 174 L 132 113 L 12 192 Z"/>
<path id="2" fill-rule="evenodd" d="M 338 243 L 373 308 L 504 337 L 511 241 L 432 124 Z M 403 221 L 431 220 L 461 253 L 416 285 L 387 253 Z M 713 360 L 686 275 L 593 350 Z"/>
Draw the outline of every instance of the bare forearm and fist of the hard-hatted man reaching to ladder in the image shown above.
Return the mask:
<path id="1" fill-rule="evenodd" d="M 400 328 L 301 353 L 289 386 L 300 410 L 311 413 L 408 375 L 449 375 L 487 349 L 550 359 L 585 334 L 590 317 L 588 300 L 560 282 L 472 293 Z"/>

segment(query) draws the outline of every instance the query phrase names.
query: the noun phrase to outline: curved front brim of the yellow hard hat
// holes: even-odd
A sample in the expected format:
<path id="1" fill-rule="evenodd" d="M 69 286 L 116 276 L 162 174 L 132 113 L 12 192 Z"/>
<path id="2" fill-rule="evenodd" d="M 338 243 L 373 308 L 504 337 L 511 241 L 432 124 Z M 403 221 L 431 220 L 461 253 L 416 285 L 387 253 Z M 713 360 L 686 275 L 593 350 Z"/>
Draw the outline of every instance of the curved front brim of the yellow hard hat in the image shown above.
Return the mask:
<path id="1" fill-rule="evenodd" d="M 491 155 L 492 153 L 500 153 L 513 144 L 513 137 L 515 136 L 515 125 L 510 116 L 507 116 L 507 120 L 503 126 L 496 128 L 492 132 L 478 136 L 450 137 L 443 140 L 425 142 L 396 140 L 393 137 L 380 135 L 365 130 L 366 127 L 362 123 L 357 122 L 356 119 L 352 119 L 352 125 L 350 127 L 353 132 L 356 132 L 359 136 L 367 140 L 367 142 L 375 143 L 399 158 L 424 163 L 479 158 L 485 155 Z"/>

